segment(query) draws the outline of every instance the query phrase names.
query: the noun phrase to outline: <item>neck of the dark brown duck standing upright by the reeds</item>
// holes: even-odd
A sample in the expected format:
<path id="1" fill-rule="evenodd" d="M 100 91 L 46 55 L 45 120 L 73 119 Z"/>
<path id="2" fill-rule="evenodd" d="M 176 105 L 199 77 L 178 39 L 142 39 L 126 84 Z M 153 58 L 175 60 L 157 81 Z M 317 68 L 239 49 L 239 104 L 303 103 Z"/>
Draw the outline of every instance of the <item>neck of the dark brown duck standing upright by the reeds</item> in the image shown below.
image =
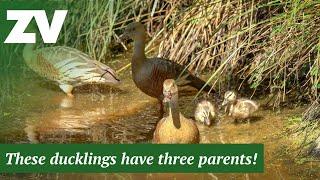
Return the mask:
<path id="1" fill-rule="evenodd" d="M 144 54 L 145 49 L 145 35 L 140 34 L 134 39 L 133 46 L 133 57 L 132 57 L 132 67 L 136 69 L 140 67 L 146 60 L 146 56 Z"/>

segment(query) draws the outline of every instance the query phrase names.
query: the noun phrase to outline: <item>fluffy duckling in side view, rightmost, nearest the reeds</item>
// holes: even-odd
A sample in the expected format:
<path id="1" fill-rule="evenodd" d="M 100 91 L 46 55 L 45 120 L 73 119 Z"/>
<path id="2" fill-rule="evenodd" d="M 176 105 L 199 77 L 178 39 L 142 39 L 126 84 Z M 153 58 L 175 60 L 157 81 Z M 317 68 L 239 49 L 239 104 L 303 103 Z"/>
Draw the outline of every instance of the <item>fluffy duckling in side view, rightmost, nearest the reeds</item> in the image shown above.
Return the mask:
<path id="1" fill-rule="evenodd" d="M 249 118 L 259 108 L 255 101 L 244 98 L 237 99 L 237 94 L 234 91 L 227 91 L 224 94 L 222 106 L 226 105 L 227 115 L 234 118 L 235 122 Z"/>

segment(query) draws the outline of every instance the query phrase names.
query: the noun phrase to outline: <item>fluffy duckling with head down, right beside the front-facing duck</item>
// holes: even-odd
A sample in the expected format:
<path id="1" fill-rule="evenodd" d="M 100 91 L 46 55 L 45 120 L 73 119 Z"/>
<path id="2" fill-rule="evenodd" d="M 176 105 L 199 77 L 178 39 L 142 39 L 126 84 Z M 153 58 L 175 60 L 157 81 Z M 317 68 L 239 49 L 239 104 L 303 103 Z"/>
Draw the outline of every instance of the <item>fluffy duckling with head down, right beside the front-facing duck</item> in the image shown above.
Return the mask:
<path id="1" fill-rule="evenodd" d="M 210 101 L 202 100 L 197 104 L 194 117 L 196 121 L 210 126 L 212 122 L 217 118 L 217 109 Z"/>

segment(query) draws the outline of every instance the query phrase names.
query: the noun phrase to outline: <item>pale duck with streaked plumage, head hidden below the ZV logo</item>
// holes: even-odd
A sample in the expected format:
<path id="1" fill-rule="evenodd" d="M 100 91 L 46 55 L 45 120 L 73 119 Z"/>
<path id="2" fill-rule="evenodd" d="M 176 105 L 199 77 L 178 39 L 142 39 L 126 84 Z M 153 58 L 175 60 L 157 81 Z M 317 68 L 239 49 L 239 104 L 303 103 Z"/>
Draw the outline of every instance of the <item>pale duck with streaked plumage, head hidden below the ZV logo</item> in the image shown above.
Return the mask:
<path id="1" fill-rule="evenodd" d="M 53 46 L 36 49 L 35 44 L 26 44 L 23 58 L 30 69 L 55 82 L 69 97 L 74 97 L 72 90 L 77 86 L 114 86 L 120 83 L 113 69 L 75 48 Z"/>

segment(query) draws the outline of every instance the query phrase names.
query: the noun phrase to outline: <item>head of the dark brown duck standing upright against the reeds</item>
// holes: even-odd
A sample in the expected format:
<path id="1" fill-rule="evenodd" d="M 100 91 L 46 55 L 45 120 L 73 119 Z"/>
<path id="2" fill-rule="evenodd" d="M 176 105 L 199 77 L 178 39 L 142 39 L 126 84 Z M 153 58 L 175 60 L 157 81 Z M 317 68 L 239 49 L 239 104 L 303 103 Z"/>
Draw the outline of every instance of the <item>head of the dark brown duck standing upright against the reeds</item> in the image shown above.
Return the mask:
<path id="1" fill-rule="evenodd" d="M 145 38 L 145 29 L 143 24 L 140 22 L 133 22 L 129 24 L 125 30 L 124 33 L 121 35 L 121 39 L 144 39 Z"/>

